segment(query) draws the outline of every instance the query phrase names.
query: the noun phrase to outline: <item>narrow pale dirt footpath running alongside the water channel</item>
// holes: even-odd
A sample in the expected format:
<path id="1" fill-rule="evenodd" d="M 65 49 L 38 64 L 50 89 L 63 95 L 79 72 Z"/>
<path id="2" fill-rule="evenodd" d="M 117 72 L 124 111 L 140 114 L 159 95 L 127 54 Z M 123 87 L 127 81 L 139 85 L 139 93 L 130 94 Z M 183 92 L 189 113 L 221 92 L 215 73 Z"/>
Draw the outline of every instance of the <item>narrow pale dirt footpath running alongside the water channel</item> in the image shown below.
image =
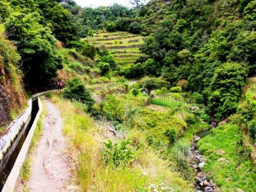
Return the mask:
<path id="1" fill-rule="evenodd" d="M 42 123 L 42 137 L 32 160 L 29 191 L 70 191 L 71 170 L 67 144 L 62 134 L 60 111 L 51 101 L 43 98 L 47 114 Z"/>

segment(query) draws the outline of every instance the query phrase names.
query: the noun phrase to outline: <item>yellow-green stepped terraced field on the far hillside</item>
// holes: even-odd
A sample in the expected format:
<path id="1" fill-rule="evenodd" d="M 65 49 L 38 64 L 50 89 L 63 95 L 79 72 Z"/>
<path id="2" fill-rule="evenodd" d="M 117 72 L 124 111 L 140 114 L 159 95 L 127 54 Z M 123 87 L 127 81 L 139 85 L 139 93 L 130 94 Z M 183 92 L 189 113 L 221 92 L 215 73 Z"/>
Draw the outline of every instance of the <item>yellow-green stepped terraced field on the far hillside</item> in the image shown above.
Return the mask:
<path id="1" fill-rule="evenodd" d="M 118 63 L 132 64 L 142 55 L 139 47 L 143 44 L 143 38 L 145 37 L 118 31 L 101 33 L 88 37 L 87 40 L 99 48 L 107 48 L 115 55 Z"/>

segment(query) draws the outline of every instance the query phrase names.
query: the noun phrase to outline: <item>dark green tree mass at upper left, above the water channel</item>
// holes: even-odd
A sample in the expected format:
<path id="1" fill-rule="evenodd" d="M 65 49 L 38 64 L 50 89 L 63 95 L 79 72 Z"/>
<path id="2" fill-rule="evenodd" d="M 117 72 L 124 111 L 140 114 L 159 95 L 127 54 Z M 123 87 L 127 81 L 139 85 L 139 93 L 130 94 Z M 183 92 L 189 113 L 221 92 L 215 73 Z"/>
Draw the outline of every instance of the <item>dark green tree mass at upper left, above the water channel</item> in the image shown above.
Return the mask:
<path id="1" fill-rule="evenodd" d="M 28 88 L 42 89 L 56 77 L 62 68 L 59 44 L 91 55 L 90 45 L 79 41 L 74 16 L 58 2 L 2 0 L 0 15 L 8 39 L 15 41 L 22 57 L 20 68 Z"/>

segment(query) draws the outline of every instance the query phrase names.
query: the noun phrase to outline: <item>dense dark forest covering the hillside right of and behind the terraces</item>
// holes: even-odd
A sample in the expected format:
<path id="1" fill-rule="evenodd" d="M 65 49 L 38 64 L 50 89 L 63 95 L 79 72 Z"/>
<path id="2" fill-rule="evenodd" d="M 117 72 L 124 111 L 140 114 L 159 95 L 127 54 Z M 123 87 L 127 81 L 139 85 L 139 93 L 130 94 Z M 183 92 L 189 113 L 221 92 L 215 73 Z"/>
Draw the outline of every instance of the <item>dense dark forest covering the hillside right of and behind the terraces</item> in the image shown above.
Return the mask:
<path id="1" fill-rule="evenodd" d="M 187 91 L 202 94 L 221 119 L 235 111 L 245 78 L 256 72 L 254 10 L 255 1 L 154 0 L 131 10 L 81 8 L 75 17 L 89 27 L 83 35 L 102 28 L 148 35 L 141 47 L 147 56 L 120 74 L 162 76 L 172 86 L 188 81 Z"/>

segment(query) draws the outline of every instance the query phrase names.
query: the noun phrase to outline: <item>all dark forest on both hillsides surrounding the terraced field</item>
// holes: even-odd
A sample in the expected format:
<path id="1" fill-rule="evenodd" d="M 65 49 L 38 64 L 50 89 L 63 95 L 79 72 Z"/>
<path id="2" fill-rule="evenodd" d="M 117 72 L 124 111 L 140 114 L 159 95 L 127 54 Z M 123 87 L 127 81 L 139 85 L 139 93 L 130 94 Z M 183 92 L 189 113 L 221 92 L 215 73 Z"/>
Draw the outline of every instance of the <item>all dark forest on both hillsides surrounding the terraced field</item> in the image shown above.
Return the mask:
<path id="1" fill-rule="evenodd" d="M 62 68 L 58 41 L 93 59 L 95 48 L 79 38 L 100 30 L 148 36 L 141 46 L 146 56 L 112 71 L 127 78 L 161 76 L 172 86 L 188 81 L 186 91 L 203 95 L 218 119 L 235 111 L 244 80 L 256 72 L 256 1 L 132 1 L 134 8 L 81 8 L 72 0 L 1 2 L 1 22 L 32 87 L 48 84 Z"/>

